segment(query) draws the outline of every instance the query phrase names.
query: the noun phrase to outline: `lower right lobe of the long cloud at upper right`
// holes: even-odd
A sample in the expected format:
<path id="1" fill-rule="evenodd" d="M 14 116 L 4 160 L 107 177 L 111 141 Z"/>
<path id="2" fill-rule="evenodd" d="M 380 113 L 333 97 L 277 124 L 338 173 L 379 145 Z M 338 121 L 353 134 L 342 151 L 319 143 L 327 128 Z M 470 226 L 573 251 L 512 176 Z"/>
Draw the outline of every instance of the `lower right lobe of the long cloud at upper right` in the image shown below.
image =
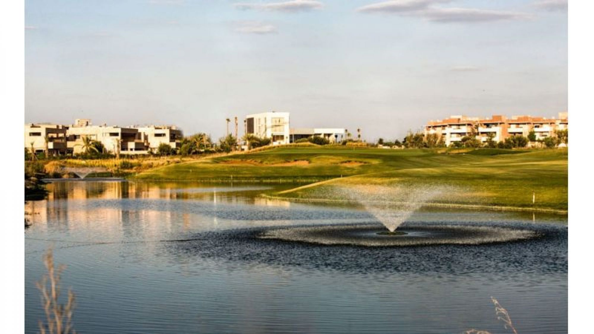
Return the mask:
<path id="1" fill-rule="evenodd" d="M 429 8 L 423 17 L 430 21 L 478 23 L 502 20 L 525 20 L 530 15 L 521 12 L 478 10 L 475 8 Z"/>

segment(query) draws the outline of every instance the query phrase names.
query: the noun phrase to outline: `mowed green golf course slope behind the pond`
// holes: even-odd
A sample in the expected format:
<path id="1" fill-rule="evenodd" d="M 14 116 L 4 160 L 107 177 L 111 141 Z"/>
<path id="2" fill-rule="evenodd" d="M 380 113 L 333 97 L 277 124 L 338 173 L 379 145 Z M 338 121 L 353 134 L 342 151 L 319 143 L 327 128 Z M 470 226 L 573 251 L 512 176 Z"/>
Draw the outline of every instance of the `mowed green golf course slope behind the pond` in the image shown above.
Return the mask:
<path id="1" fill-rule="evenodd" d="M 283 197 L 340 199 L 342 184 L 436 187 L 437 203 L 567 210 L 567 150 L 388 150 L 280 147 L 155 168 L 138 179 L 308 181 Z M 331 181 L 327 181 L 330 180 Z M 325 181 L 316 184 L 316 181 Z M 532 193 L 536 203 L 532 204 Z"/>

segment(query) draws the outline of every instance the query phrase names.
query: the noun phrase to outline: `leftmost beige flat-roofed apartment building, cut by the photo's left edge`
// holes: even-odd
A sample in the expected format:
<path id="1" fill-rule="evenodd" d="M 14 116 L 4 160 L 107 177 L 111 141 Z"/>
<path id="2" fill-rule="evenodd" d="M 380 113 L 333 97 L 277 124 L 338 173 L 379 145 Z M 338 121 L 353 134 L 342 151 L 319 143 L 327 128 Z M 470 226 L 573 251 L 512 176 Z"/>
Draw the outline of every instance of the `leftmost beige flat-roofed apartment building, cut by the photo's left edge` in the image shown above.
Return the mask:
<path id="1" fill-rule="evenodd" d="M 67 153 L 67 127 L 58 124 L 37 123 L 25 124 L 25 148 L 35 153 L 45 153 L 50 156 L 65 155 Z"/>

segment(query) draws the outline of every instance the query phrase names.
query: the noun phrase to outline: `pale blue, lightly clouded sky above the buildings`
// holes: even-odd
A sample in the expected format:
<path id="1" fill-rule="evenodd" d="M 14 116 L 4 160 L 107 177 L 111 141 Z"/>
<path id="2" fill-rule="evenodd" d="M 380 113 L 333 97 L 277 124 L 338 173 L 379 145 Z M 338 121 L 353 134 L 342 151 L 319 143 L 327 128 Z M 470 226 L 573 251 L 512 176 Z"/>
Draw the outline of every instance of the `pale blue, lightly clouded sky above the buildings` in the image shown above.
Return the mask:
<path id="1" fill-rule="evenodd" d="M 371 141 L 567 111 L 567 0 L 26 0 L 24 29 L 26 122 L 279 111 Z"/>

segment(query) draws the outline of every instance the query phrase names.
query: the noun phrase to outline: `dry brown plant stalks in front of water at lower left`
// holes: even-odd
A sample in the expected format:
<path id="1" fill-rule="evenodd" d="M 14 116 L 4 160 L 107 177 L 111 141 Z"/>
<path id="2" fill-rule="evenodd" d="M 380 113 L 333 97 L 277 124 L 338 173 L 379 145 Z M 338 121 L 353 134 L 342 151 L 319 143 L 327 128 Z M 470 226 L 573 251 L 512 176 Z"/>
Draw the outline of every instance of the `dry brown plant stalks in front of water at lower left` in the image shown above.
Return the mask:
<path id="1" fill-rule="evenodd" d="M 68 290 L 66 304 L 60 304 L 60 275 L 65 269 L 64 264 L 55 267 L 53 263 L 53 251 L 50 248 L 43 256 L 43 264 L 48 270 L 41 281 L 37 282 L 37 288 L 41 292 L 43 310 L 45 311 L 46 323 L 39 320 L 39 331 L 42 334 L 70 334 L 76 333 L 72 328 L 72 310 L 74 310 L 74 294 Z"/>

